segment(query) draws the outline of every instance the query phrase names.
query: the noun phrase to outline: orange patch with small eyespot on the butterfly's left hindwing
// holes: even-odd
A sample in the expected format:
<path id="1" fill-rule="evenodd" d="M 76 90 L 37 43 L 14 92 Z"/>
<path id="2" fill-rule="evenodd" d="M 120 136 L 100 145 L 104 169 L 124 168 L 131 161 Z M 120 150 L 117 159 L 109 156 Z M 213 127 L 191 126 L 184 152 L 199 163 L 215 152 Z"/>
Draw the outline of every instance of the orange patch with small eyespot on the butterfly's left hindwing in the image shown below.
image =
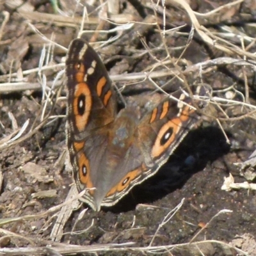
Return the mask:
<path id="1" fill-rule="evenodd" d="M 86 188 L 93 188 L 92 180 L 90 179 L 90 163 L 84 154 L 79 154 L 78 158 L 79 179 Z"/>

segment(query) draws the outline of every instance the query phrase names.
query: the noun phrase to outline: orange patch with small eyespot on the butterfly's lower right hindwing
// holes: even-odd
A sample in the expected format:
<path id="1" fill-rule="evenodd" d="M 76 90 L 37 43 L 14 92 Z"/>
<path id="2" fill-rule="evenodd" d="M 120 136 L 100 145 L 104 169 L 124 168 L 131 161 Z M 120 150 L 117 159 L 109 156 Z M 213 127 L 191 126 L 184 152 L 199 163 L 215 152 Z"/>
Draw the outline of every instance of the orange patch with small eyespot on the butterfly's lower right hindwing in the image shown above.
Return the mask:
<path id="1" fill-rule="evenodd" d="M 142 172 L 143 172 L 143 166 L 127 173 L 127 175 L 125 175 L 125 177 L 122 180 L 120 180 L 120 182 L 118 184 L 116 184 L 116 186 L 114 186 L 113 188 L 111 188 L 108 191 L 108 194 L 106 196 L 107 197 L 111 196 L 111 195 L 115 194 L 116 191 L 117 192 L 123 191 L 125 188 L 127 188 L 127 186 L 129 186 L 131 181 L 138 178 Z"/>

